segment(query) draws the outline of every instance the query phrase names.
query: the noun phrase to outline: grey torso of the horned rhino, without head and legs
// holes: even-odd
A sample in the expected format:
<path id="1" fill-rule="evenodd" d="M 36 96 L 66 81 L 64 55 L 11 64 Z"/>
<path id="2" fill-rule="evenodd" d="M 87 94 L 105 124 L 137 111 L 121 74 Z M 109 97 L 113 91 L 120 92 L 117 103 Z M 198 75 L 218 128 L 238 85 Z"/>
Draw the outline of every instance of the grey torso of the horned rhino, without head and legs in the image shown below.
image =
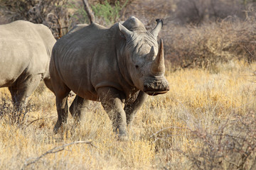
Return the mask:
<path id="1" fill-rule="evenodd" d="M 116 35 L 95 23 L 60 38 L 53 47 L 52 60 L 62 81 L 76 94 L 97 100 L 101 86 L 119 86 Z"/>

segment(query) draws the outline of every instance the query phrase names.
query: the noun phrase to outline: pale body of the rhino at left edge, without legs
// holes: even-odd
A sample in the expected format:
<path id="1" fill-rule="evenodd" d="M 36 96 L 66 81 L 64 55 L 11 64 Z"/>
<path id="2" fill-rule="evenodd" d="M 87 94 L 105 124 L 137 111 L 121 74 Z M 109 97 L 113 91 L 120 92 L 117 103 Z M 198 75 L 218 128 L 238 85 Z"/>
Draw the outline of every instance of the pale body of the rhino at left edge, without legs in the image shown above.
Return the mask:
<path id="1" fill-rule="evenodd" d="M 46 26 L 28 21 L 1 25 L 0 86 L 11 86 L 21 74 L 47 75 L 54 43 Z"/>

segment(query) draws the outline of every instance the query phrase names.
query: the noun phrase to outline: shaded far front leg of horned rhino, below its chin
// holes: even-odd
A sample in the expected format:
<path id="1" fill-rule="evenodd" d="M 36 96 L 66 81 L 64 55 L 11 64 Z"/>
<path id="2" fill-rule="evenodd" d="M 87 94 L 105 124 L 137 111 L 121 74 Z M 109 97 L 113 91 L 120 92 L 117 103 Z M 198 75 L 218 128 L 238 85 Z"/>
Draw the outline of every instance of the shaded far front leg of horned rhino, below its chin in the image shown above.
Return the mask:
<path id="1" fill-rule="evenodd" d="M 136 94 L 135 94 L 136 95 Z M 128 102 L 124 106 L 124 111 L 126 113 L 127 125 L 132 123 L 135 113 L 142 107 L 144 101 L 146 101 L 147 94 L 143 91 L 139 91 L 139 94 L 134 102 Z"/>

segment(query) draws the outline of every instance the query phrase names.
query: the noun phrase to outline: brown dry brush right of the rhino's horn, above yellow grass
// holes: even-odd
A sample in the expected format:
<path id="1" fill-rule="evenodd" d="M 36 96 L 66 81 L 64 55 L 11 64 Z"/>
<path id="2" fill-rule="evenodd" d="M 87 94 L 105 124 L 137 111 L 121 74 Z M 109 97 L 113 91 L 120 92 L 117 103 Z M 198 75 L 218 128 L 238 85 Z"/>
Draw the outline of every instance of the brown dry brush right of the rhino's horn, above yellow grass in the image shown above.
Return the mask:
<path id="1" fill-rule="evenodd" d="M 238 20 L 173 26 L 165 36 L 166 58 L 176 69 L 214 69 L 219 62 L 236 59 L 255 61 L 254 28 L 254 22 Z"/>

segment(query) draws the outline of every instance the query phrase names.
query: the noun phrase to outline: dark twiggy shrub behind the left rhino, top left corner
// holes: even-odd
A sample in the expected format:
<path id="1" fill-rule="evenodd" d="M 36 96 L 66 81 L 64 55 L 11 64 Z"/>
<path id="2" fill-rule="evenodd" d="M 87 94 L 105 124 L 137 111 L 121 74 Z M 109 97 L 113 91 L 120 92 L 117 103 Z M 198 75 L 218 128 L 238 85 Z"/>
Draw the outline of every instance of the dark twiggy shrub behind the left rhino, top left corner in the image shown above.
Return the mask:
<path id="1" fill-rule="evenodd" d="M 56 39 L 68 32 L 68 0 L 0 0 L 2 14 L 8 20 L 26 20 L 48 26 Z"/>

